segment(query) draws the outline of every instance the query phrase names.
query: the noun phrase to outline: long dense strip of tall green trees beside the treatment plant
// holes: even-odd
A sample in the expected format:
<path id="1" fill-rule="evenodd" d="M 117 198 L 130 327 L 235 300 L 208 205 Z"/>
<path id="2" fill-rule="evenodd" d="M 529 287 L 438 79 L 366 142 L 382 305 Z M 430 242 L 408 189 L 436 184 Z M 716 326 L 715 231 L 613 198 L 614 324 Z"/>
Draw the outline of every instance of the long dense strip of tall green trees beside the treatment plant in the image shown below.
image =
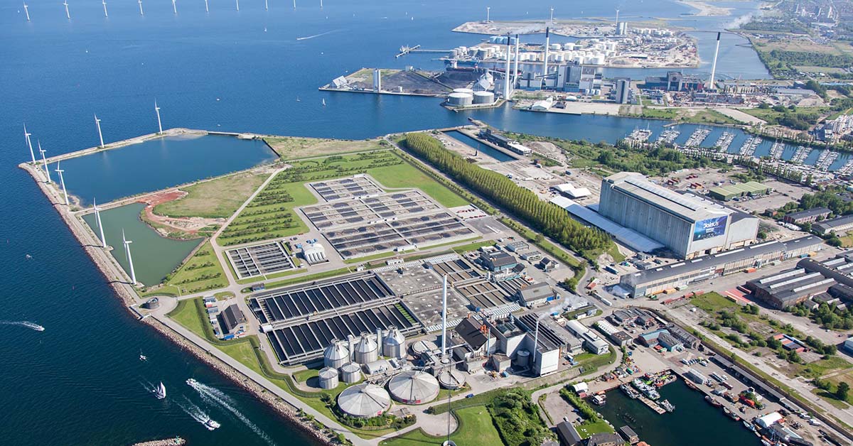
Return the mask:
<path id="1" fill-rule="evenodd" d="M 600 251 L 612 243 L 610 236 L 601 230 L 584 227 L 569 217 L 560 206 L 539 200 L 537 194 L 519 187 L 508 177 L 468 163 L 460 155 L 445 149 L 432 136 L 409 133 L 403 144 L 457 182 L 506 208 L 533 229 L 576 252 Z"/>

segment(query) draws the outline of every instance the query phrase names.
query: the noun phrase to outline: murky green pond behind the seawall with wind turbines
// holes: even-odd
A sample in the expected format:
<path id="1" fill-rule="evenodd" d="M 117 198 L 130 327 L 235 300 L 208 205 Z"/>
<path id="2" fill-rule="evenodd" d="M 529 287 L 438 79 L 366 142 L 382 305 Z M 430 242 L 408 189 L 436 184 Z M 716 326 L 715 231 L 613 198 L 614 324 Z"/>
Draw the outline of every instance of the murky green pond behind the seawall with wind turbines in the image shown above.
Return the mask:
<path id="1" fill-rule="evenodd" d="M 127 240 L 133 242 L 131 258 L 133 258 L 136 280 L 151 286 L 160 283 L 166 275 L 176 269 L 195 246 L 199 246 L 201 239 L 174 240 L 161 237 L 157 231 L 140 219 L 139 213 L 144 208 L 145 205 L 142 203 L 133 203 L 101 211 L 101 223 L 104 225 L 104 238 L 107 239 L 107 245 L 113 247 L 111 251 L 113 258 L 125 271 L 130 271 L 127 255 L 121 246 L 121 231 L 125 231 Z M 95 214 L 87 214 L 83 219 L 92 231 L 99 235 Z"/>

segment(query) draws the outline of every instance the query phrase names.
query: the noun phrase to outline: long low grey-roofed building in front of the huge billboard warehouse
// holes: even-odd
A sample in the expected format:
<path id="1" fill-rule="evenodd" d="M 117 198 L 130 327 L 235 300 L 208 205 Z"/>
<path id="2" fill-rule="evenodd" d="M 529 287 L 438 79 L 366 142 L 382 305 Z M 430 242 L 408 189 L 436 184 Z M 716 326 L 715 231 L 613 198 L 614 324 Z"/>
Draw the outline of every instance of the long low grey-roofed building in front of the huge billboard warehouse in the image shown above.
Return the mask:
<path id="1" fill-rule="evenodd" d="M 799 257 L 823 248 L 823 240 L 807 235 L 795 240 L 768 241 L 733 251 L 718 252 L 693 260 L 645 269 L 623 275 L 619 286 L 637 297 L 687 287 L 693 283 L 728 275 L 746 268 L 760 268 L 777 260 Z"/>

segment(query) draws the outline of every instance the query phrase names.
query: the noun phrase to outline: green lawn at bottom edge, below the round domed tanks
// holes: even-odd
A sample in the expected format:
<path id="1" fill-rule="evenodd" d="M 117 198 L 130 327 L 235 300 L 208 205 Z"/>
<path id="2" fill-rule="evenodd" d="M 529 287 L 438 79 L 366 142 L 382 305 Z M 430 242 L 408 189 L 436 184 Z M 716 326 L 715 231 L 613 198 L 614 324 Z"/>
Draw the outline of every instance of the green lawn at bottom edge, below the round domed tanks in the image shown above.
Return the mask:
<path id="1" fill-rule="evenodd" d="M 502 444 L 495 425 L 492 423 L 489 410 L 485 406 L 473 406 L 471 408 L 460 408 L 453 411 L 456 420 L 459 420 L 459 428 L 450 434 L 450 439 L 456 444 Z M 425 444 L 441 444 L 447 437 L 432 437 L 416 429 L 407 432 L 400 437 L 383 441 L 380 444 L 389 446 L 423 446 Z"/>

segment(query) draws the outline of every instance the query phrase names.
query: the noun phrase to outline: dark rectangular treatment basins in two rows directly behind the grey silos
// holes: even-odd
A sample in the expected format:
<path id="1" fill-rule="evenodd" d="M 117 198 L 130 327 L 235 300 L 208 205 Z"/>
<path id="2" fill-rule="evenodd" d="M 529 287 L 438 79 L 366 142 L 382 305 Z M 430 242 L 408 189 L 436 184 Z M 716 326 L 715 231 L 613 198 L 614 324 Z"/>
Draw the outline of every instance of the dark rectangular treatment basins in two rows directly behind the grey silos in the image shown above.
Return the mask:
<path id="1" fill-rule="evenodd" d="M 406 335 L 421 328 L 400 298 L 373 273 L 258 293 L 249 305 L 284 365 L 322 358 L 334 339 L 389 327 L 397 327 Z"/>

